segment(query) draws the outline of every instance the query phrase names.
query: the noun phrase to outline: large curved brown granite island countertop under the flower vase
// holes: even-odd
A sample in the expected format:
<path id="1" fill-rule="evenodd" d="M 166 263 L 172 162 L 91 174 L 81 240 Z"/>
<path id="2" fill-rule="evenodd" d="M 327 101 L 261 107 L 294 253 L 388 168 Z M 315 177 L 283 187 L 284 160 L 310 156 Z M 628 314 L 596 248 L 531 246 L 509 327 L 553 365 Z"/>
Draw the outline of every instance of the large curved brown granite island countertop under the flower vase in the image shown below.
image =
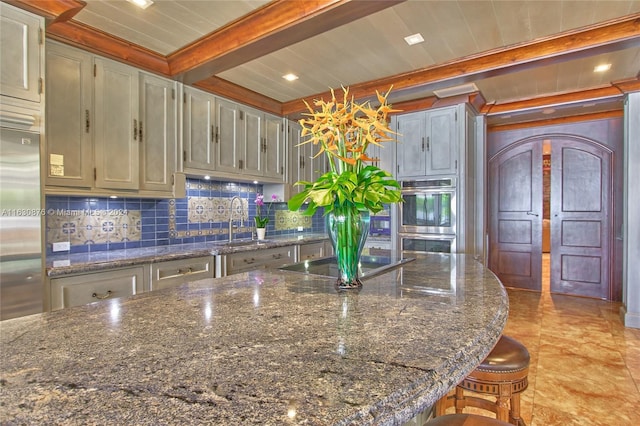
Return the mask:
<path id="1" fill-rule="evenodd" d="M 507 294 L 469 256 L 417 255 L 336 292 L 285 271 L 0 323 L 5 424 L 398 425 L 498 340 Z"/>

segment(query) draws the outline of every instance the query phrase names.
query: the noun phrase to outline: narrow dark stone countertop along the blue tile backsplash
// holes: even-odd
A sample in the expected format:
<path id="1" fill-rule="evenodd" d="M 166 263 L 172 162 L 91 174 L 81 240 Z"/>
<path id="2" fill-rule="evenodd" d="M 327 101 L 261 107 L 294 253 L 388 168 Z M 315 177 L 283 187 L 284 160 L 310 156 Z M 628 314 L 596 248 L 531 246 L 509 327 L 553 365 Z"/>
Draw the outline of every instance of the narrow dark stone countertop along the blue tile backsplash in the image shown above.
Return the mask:
<path id="1" fill-rule="evenodd" d="M 47 256 L 46 273 L 49 277 L 58 277 L 83 272 L 124 268 L 145 263 L 238 253 L 293 244 L 309 244 L 327 240 L 327 238 L 326 234 L 303 234 L 290 237 L 279 236 L 264 241 L 234 240 L 234 245 L 229 245 L 227 241 L 212 241 L 92 253 L 54 254 Z"/>

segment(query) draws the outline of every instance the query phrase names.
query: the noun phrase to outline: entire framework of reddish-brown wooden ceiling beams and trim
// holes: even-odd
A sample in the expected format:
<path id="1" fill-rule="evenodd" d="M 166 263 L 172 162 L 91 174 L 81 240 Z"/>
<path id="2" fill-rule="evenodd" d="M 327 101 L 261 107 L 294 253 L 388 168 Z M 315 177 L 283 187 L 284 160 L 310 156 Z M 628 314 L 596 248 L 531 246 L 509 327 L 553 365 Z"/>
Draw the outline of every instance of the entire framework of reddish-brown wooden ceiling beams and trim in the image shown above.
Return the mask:
<path id="1" fill-rule="evenodd" d="M 192 83 L 211 93 L 240 101 L 256 108 L 281 115 L 297 115 L 304 110 L 302 99 L 280 103 L 229 81 L 213 73 L 230 69 L 243 61 L 286 47 L 299 40 L 335 28 L 350 20 L 390 7 L 404 0 L 352 1 L 315 0 L 290 2 L 276 0 L 257 9 L 224 28 L 211 33 L 169 56 L 159 55 L 126 40 L 88 27 L 72 18 L 86 5 L 80 0 L 4 0 L 29 10 L 47 20 L 47 36 L 81 47 L 142 69 Z M 294 7 L 292 7 L 294 5 Z M 298 34 L 299 33 L 299 34 Z M 393 85 L 394 93 L 410 94 L 420 88 L 439 89 L 468 83 L 478 78 L 505 75 L 536 65 L 559 63 L 604 51 L 620 50 L 640 45 L 640 14 L 571 31 L 517 46 L 495 49 L 379 80 L 351 85 L 351 93 L 358 99 L 370 97 L 376 90 L 385 92 Z M 224 46 L 224 48 L 222 47 Z M 611 87 L 565 94 L 558 97 L 532 99 L 508 105 L 483 108 L 491 114 L 513 108 L 542 107 L 544 102 L 580 101 L 594 95 L 614 96 L 620 92 L 640 90 L 638 80 L 612 84 Z M 306 97 L 330 96 L 329 92 Z M 435 104 L 433 98 L 414 101 Z M 417 105 L 416 104 L 416 105 Z"/>

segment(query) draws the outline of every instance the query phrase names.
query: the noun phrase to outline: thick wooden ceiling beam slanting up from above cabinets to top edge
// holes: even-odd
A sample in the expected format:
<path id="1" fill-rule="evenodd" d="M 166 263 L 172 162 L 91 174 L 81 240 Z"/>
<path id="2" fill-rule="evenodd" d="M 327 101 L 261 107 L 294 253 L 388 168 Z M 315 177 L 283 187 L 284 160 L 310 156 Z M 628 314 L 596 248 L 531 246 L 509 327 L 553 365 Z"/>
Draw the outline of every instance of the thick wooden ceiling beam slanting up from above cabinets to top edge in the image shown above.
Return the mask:
<path id="1" fill-rule="evenodd" d="M 168 56 L 192 84 L 405 0 L 275 0 Z"/>

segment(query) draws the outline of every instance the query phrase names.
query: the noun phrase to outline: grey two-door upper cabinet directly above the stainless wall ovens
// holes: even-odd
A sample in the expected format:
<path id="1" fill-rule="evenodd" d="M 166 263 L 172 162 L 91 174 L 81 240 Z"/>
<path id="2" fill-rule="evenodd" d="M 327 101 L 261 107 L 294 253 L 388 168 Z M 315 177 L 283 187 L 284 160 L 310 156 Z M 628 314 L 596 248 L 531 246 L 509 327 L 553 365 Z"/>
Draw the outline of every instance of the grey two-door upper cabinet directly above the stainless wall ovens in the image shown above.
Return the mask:
<path id="1" fill-rule="evenodd" d="M 455 175 L 458 172 L 457 107 L 397 116 L 397 178 Z"/>

